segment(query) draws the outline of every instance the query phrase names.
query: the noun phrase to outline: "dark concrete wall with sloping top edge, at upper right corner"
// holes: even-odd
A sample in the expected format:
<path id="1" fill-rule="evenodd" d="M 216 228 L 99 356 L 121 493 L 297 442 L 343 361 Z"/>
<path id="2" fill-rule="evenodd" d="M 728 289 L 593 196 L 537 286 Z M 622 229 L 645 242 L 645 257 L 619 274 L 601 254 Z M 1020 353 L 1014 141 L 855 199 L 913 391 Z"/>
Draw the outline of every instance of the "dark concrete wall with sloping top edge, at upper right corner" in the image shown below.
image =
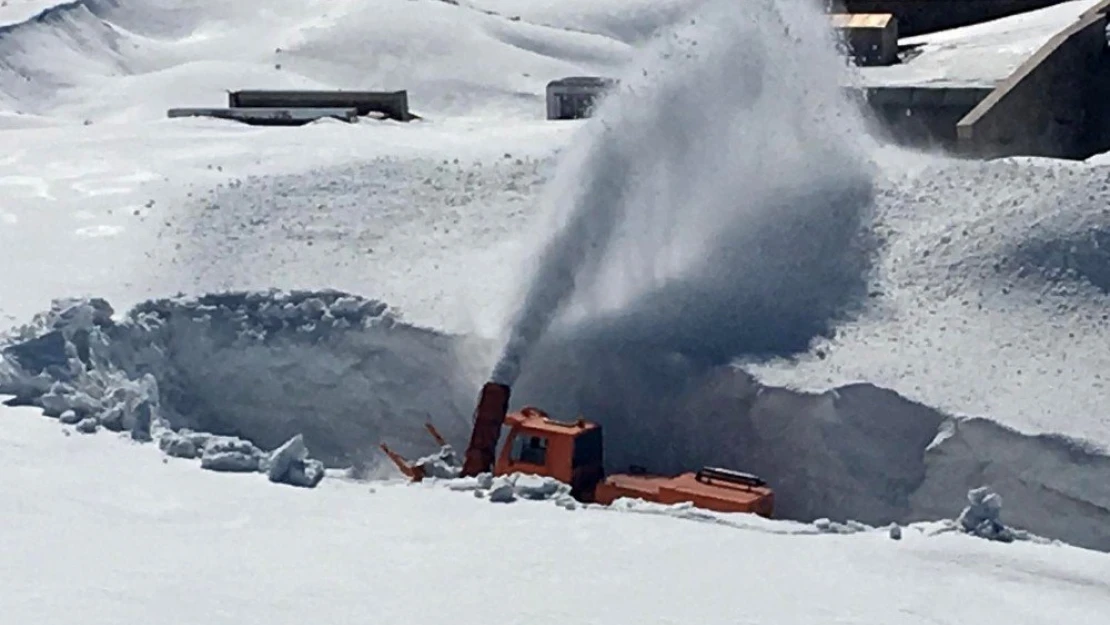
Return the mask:
<path id="1" fill-rule="evenodd" d="M 1053 36 L 957 125 L 958 150 L 975 158 L 1086 158 L 1100 149 L 1098 105 L 1107 67 L 1103 0 Z"/>

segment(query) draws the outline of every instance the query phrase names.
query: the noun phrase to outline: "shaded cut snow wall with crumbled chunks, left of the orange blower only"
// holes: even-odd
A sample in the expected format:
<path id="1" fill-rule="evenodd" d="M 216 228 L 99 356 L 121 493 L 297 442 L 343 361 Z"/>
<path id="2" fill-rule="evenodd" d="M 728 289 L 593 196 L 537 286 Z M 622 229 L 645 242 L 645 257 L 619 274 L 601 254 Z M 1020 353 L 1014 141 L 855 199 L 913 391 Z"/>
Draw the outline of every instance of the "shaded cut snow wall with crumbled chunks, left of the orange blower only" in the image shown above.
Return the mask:
<path id="1" fill-rule="evenodd" d="M 121 403 L 114 390 L 140 385 L 173 430 L 263 448 L 303 434 L 313 455 L 343 465 L 385 438 L 412 451 L 428 419 L 455 434 L 473 402 L 456 343 L 397 323 L 376 301 L 226 293 L 145 302 L 119 322 L 110 315 L 103 301 L 57 302 L 3 350 L 0 393 L 52 416 L 74 410 L 105 422 Z"/>

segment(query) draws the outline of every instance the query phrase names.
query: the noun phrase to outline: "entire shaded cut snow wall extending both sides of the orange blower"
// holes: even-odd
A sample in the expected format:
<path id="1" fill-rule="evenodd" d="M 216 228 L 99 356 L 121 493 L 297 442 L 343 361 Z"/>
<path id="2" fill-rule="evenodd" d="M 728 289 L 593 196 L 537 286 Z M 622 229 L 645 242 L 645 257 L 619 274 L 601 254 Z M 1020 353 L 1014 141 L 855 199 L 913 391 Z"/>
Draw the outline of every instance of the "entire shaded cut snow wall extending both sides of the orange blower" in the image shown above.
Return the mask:
<path id="1" fill-rule="evenodd" d="M 118 321 L 102 301 L 58 302 L 7 343 L 0 393 L 48 414 L 72 411 L 71 422 L 135 432 L 147 411 L 153 437 L 161 440 L 164 424 L 201 453 L 208 433 L 263 450 L 303 434 L 307 453 L 333 466 L 382 461 L 374 446 L 383 440 L 411 457 L 426 454 L 427 420 L 448 441 L 465 443 L 484 375 L 466 357 L 463 337 L 411 326 L 382 302 L 332 291 L 157 300 Z M 645 367 L 632 372 L 632 387 L 609 392 L 627 375 L 620 365 L 628 355 L 549 351 L 551 376 L 525 375 L 517 396 L 556 415 L 583 412 L 602 422 L 613 470 L 720 464 L 759 473 L 775 486 L 783 517 L 872 526 L 953 518 L 968 488 L 990 485 L 1007 502 L 1008 525 L 1110 551 L 1103 451 L 952 419 L 871 385 L 805 394 L 764 386 L 730 366 L 695 372 L 662 404 L 655 396 L 628 404 Z M 592 362 L 610 366 L 591 367 L 594 386 L 566 387 L 555 374 Z M 653 363 L 670 389 L 690 373 L 677 359 Z M 209 455 L 241 445 L 220 441 Z M 243 455 L 259 471 L 279 457 L 249 451 L 223 460 Z"/>

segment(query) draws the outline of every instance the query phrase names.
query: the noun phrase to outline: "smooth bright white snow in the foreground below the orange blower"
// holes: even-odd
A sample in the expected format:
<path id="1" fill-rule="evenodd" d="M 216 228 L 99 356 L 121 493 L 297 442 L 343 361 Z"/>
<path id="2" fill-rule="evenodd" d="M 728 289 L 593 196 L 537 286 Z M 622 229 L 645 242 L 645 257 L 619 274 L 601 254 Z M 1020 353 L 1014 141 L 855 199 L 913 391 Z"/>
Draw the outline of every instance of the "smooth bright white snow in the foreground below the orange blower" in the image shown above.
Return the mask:
<path id="1" fill-rule="evenodd" d="M 339 478 L 306 492 L 0 410 L 7 480 L 34 485 L 4 492 L 13 623 L 478 623 L 508 576 L 497 609 L 529 623 L 1094 624 L 1110 591 L 1110 560 L 1061 546 L 740 531 Z"/>

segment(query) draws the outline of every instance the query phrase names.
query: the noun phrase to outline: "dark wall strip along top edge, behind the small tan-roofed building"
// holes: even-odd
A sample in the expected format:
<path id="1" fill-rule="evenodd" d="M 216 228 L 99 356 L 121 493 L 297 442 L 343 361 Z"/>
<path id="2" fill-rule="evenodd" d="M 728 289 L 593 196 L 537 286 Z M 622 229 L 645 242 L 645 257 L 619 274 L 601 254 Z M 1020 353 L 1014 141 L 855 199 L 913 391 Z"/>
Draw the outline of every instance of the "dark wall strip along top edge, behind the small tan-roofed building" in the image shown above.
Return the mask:
<path id="1" fill-rule="evenodd" d="M 910 37 L 1042 9 L 1064 0 L 834 0 L 834 10 L 894 13 L 898 32 Z"/>

